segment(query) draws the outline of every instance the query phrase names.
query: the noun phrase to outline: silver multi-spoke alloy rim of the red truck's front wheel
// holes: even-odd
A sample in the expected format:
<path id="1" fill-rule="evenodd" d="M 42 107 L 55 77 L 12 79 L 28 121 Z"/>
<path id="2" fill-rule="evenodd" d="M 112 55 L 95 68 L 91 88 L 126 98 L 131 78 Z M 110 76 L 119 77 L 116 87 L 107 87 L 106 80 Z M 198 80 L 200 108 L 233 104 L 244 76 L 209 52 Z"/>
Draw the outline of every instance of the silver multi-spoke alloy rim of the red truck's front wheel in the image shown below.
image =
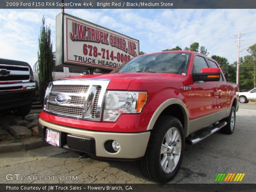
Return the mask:
<path id="1" fill-rule="evenodd" d="M 160 160 L 165 173 L 172 172 L 180 159 L 182 140 L 176 127 L 170 128 L 162 141 Z"/>

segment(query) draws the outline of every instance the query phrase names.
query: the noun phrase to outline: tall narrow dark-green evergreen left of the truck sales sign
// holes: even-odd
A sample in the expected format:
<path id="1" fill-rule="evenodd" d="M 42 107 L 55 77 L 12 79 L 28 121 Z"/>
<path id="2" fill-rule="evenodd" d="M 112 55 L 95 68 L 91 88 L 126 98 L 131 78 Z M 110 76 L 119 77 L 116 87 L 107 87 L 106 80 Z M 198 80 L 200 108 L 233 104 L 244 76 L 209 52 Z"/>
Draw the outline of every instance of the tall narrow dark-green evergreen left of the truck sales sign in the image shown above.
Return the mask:
<path id="1" fill-rule="evenodd" d="M 45 18 L 42 18 L 40 36 L 38 38 L 38 80 L 39 96 L 43 103 L 44 94 L 48 83 L 52 81 L 53 53 L 50 27 L 45 26 Z"/>

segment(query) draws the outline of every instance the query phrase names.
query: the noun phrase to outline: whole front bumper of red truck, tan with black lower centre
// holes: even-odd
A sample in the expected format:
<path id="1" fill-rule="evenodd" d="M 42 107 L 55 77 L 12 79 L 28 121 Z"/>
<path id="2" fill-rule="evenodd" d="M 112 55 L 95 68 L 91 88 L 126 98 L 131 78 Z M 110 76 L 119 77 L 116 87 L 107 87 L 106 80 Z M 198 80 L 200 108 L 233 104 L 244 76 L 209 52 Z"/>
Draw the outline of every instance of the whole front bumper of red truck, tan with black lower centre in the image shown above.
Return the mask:
<path id="1" fill-rule="evenodd" d="M 118 133 L 90 131 L 53 124 L 39 119 L 38 132 L 45 138 L 46 128 L 61 132 L 60 147 L 88 153 L 99 158 L 137 159 L 143 157 L 148 145 L 150 132 Z M 108 152 L 106 142 L 116 140 L 118 152 Z"/>

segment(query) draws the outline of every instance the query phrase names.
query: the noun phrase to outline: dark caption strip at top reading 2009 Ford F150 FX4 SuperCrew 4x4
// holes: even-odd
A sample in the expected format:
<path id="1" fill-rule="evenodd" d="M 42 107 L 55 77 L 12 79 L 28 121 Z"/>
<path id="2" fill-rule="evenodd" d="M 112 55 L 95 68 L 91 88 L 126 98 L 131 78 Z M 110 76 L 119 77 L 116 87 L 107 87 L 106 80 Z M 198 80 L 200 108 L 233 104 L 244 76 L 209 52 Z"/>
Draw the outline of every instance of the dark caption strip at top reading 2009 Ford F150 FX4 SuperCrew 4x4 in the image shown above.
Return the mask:
<path id="1" fill-rule="evenodd" d="M 1 9 L 254 9 L 255 0 L 4 0 Z"/>

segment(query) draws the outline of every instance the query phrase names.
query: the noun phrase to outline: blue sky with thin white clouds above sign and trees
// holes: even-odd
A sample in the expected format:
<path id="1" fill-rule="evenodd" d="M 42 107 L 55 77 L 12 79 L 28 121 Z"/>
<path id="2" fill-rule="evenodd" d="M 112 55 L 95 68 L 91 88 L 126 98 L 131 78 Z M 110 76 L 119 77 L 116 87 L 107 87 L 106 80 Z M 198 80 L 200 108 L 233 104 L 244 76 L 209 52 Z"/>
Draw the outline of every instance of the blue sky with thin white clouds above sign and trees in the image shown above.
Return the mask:
<path id="1" fill-rule="evenodd" d="M 0 58 L 22 60 L 31 66 L 37 60 L 42 16 L 52 30 L 55 51 L 55 16 L 60 9 L 4 9 L 0 11 Z M 205 46 L 208 56 L 219 55 L 230 63 L 256 43 L 255 9 L 65 9 L 65 12 L 140 40 L 140 51 L 158 52 L 193 42 Z"/>

